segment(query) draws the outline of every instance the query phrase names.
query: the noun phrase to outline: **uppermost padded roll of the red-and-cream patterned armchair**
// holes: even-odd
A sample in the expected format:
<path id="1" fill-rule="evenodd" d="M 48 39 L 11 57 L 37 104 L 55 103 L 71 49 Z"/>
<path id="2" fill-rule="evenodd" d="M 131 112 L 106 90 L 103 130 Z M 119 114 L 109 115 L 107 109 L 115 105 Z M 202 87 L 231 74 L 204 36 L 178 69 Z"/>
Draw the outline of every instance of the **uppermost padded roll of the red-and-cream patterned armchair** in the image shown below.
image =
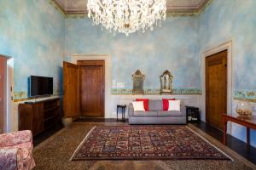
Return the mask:
<path id="1" fill-rule="evenodd" d="M 30 130 L 0 134 L 0 147 L 23 144 L 26 142 L 32 142 L 32 132 Z"/>

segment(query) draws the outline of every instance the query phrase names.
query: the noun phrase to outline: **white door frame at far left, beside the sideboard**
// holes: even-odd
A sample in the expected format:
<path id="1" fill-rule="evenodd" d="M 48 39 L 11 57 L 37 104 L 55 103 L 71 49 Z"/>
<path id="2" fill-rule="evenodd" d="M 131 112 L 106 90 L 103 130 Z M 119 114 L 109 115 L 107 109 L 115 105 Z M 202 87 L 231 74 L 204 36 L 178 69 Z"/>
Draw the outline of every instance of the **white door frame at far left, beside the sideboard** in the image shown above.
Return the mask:
<path id="1" fill-rule="evenodd" d="M 18 116 L 14 115 L 14 58 L 3 54 L 0 54 L 0 56 L 7 59 L 6 94 L 4 99 L 6 112 L 3 115 L 3 133 L 9 133 L 15 131 L 15 124 L 18 124 Z"/>

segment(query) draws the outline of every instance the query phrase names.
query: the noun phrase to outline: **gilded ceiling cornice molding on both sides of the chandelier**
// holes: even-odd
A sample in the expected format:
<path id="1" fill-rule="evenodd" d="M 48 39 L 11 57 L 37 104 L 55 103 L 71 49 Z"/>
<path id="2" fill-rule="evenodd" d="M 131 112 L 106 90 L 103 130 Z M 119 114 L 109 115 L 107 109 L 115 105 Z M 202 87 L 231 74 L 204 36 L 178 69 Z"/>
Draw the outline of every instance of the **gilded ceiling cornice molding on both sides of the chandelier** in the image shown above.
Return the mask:
<path id="1" fill-rule="evenodd" d="M 213 0 L 202 0 L 196 5 L 190 6 L 166 6 L 167 17 L 195 17 L 204 12 L 204 10 L 212 3 Z M 55 6 L 61 14 L 67 19 L 85 19 L 87 17 L 87 10 L 82 8 L 65 8 L 59 0 L 49 0 L 49 3 Z"/>

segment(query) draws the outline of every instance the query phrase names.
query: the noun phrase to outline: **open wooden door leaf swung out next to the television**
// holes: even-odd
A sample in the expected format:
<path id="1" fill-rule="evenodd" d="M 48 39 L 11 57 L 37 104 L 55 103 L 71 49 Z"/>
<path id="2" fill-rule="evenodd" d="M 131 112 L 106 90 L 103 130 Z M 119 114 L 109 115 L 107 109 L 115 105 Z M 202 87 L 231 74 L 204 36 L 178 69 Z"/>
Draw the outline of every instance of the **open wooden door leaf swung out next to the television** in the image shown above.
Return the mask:
<path id="1" fill-rule="evenodd" d="M 63 62 L 64 116 L 79 118 L 79 66 Z"/>

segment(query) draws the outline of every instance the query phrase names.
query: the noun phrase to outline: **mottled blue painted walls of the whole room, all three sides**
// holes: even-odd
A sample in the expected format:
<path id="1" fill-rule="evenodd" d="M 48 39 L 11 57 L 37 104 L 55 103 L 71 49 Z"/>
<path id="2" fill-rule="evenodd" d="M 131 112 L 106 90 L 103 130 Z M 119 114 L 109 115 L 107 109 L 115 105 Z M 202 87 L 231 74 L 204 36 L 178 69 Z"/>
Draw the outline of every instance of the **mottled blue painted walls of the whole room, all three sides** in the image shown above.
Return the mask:
<path id="1" fill-rule="evenodd" d="M 213 0 L 198 18 L 167 18 L 162 27 L 129 37 L 113 37 L 88 19 L 65 20 L 45 0 L 0 0 L 0 6 L 0 54 L 15 59 L 16 99 L 26 98 L 30 75 L 55 77 L 55 94 L 60 93 L 62 56 L 68 60 L 71 54 L 110 54 L 112 80 L 128 89 L 137 69 L 146 75 L 145 88 L 159 88 L 167 69 L 173 88 L 201 89 L 201 53 L 230 40 L 234 96 L 256 99 L 255 0 Z M 233 135 L 244 140 L 245 129 L 234 128 Z M 255 132 L 252 139 L 256 146 Z"/>

